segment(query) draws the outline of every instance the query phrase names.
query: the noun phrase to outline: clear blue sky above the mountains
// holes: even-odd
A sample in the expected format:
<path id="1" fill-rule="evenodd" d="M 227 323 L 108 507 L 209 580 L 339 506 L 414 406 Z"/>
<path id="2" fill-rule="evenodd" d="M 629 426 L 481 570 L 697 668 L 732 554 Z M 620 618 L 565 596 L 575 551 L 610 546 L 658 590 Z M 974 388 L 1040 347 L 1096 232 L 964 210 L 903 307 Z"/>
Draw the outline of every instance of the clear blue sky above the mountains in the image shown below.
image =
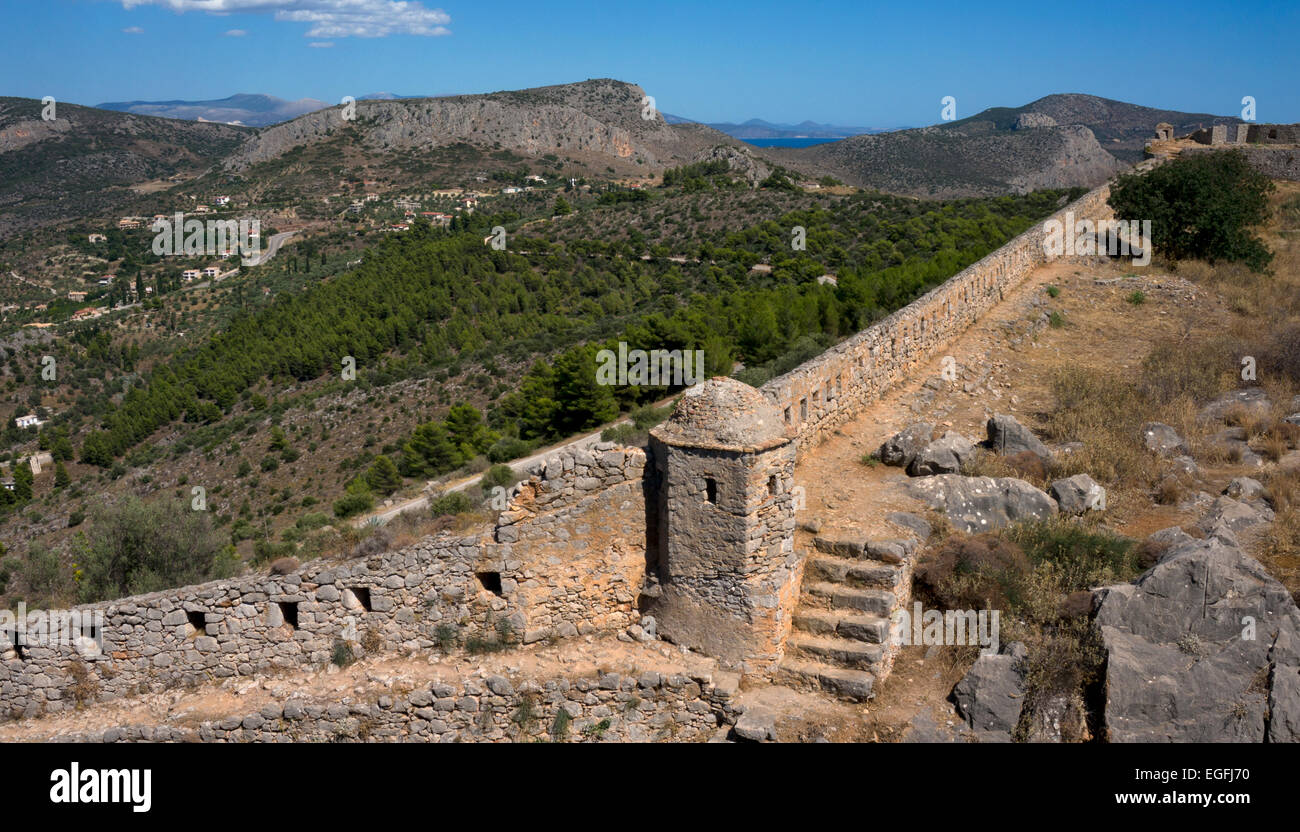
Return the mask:
<path id="1" fill-rule="evenodd" d="M 701 121 L 922 125 L 939 121 L 946 95 L 965 117 L 1052 92 L 1217 114 L 1238 114 L 1251 95 L 1258 121 L 1300 121 L 1295 0 L 0 0 L 0 95 L 78 104 L 338 101 L 612 77 Z"/>

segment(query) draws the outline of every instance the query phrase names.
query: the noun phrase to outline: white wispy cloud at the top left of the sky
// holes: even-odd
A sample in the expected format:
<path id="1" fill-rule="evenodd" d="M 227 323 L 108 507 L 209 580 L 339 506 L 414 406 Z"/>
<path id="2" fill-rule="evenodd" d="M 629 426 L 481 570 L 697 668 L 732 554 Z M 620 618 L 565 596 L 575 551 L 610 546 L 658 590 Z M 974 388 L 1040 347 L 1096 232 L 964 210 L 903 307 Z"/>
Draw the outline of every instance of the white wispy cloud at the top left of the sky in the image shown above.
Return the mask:
<path id="1" fill-rule="evenodd" d="M 385 38 L 450 35 L 451 17 L 416 0 L 122 0 L 122 6 L 157 5 L 173 12 L 273 14 L 308 23 L 307 38 Z"/>

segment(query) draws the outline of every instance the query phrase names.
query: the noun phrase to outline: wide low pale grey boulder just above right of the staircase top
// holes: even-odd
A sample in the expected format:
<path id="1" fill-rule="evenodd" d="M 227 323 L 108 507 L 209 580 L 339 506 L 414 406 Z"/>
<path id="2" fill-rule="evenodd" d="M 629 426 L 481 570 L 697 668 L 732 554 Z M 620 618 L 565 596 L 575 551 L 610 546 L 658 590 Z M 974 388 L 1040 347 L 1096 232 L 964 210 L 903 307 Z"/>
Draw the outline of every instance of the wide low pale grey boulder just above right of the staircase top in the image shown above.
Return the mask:
<path id="1" fill-rule="evenodd" d="M 1057 514 L 1054 499 L 1014 477 L 963 477 L 953 473 L 920 477 L 907 490 L 944 512 L 962 532 L 989 532 L 1017 520 L 1045 520 Z"/>

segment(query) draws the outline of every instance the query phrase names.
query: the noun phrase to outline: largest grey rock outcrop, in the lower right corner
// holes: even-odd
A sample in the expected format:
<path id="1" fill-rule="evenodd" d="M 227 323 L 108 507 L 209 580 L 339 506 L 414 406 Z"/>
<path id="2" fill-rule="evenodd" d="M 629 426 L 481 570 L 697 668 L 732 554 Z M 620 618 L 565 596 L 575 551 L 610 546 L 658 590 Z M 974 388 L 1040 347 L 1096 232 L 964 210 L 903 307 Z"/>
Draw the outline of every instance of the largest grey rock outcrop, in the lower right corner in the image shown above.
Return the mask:
<path id="1" fill-rule="evenodd" d="M 1300 610 L 1258 562 L 1186 540 L 1096 599 L 1112 742 L 1300 740 Z"/>

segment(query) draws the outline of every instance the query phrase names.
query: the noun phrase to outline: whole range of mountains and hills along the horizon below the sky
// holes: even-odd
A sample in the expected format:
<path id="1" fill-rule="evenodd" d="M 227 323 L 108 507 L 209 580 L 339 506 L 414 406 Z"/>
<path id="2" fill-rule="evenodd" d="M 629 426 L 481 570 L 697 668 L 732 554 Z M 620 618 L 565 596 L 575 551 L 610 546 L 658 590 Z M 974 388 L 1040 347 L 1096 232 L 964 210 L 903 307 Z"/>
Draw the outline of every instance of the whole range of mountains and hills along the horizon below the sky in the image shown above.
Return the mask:
<path id="1" fill-rule="evenodd" d="M 266 95 L 61 104 L 48 122 L 40 101 L 0 98 L 0 237 L 91 213 L 150 211 L 168 181 L 194 181 L 182 186 L 192 188 L 190 199 L 235 187 L 315 195 L 337 188 L 342 169 L 420 187 L 521 165 L 598 181 L 725 160 L 750 183 L 784 168 L 797 178 L 831 176 L 892 194 L 983 196 L 1093 186 L 1140 159 L 1160 122 L 1183 135 L 1238 121 L 1050 95 L 889 131 L 760 120 L 705 125 L 662 112 L 642 118 L 644 96 L 641 87 L 610 78 L 484 95 L 381 92 L 359 96 L 350 122 L 337 104 Z M 826 135 L 836 133 L 846 135 Z M 835 140 L 803 148 L 744 143 L 816 134 Z"/>

